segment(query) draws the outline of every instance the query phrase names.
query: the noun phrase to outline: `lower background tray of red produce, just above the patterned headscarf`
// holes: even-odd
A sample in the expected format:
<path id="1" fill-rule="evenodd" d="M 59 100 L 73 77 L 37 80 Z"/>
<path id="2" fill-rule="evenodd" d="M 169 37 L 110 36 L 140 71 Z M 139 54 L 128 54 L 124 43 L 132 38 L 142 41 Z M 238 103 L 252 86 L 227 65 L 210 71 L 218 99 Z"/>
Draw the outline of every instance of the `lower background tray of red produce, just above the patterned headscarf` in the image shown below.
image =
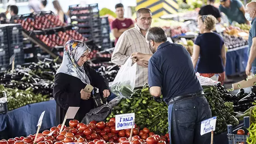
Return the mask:
<path id="1" fill-rule="evenodd" d="M 87 38 L 83 37 L 82 34 L 75 30 L 66 30 L 65 32 L 59 31 L 57 34 L 49 35 L 36 35 L 43 43 L 48 47 L 63 46 L 70 39 L 77 39 L 82 42 L 86 41 Z"/>

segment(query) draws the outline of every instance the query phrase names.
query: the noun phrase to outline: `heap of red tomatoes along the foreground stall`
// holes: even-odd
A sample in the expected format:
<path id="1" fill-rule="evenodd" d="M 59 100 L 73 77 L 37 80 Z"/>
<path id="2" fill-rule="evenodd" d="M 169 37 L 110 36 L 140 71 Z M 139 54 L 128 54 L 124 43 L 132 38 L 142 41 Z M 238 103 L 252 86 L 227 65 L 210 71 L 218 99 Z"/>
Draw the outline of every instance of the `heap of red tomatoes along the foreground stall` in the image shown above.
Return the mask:
<path id="1" fill-rule="evenodd" d="M 131 129 L 116 130 L 115 118 L 110 122 L 92 121 L 88 125 L 79 123 L 77 120 L 69 121 L 69 127 L 64 126 L 60 132 L 61 124 L 52 127 L 50 130 L 44 130 L 38 134 L 35 143 L 37 144 L 167 144 L 169 143 L 169 134 L 157 135 L 146 127 L 140 128 L 134 124 L 132 138 L 129 142 Z M 50 134 L 53 132 L 52 134 Z M 35 135 L 28 137 L 16 137 L 9 140 L 1 140 L 0 144 L 33 144 Z"/>

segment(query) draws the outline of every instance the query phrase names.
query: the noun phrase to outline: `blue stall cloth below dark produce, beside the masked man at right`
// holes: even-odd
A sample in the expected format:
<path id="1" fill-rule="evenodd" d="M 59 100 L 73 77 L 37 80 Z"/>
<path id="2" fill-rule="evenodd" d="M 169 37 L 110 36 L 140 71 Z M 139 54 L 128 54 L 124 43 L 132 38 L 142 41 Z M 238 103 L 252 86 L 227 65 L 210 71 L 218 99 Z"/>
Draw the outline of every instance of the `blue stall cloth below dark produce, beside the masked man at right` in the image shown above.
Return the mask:
<path id="1" fill-rule="evenodd" d="M 233 76 L 245 71 L 248 60 L 248 45 L 229 49 L 226 56 L 226 75 Z"/>

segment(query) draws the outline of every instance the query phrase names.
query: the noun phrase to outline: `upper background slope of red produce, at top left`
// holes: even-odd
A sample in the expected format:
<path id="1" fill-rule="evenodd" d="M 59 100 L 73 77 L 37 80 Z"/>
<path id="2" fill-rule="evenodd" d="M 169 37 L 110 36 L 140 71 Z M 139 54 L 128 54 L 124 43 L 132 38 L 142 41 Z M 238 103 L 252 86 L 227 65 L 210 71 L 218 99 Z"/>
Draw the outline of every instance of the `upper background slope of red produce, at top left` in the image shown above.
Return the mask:
<path id="1" fill-rule="evenodd" d="M 14 19 L 13 22 L 21 23 L 23 29 L 26 31 L 66 26 L 66 23 L 61 22 L 57 16 L 52 14 L 33 16 L 26 19 Z"/>

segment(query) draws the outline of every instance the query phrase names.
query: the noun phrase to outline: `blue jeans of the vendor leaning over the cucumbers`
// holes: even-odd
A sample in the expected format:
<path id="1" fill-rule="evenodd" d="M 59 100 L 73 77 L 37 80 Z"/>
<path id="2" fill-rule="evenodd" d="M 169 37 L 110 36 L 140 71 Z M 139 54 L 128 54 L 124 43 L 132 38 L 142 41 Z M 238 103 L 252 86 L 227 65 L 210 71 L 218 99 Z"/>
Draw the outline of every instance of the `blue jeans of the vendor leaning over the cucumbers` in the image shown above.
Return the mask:
<path id="1" fill-rule="evenodd" d="M 170 106 L 171 105 L 168 107 L 169 122 Z M 172 107 L 171 115 L 172 144 L 211 143 L 211 133 L 200 135 L 201 121 L 212 116 L 211 109 L 204 96 L 175 102 Z"/>

